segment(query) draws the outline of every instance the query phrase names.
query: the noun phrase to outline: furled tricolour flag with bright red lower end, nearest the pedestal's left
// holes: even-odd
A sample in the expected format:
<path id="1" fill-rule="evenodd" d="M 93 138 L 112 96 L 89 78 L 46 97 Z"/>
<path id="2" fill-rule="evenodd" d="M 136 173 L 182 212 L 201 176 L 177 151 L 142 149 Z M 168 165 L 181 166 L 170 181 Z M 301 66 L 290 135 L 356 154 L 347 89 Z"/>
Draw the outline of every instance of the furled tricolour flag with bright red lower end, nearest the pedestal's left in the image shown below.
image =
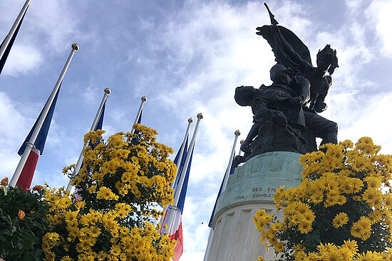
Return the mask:
<path id="1" fill-rule="evenodd" d="M 187 140 L 185 143 L 185 148 L 187 146 Z M 183 244 L 184 244 L 184 240 L 182 237 L 182 211 L 184 211 L 184 203 L 185 203 L 185 196 L 187 195 L 187 186 L 188 186 L 188 180 L 189 180 L 189 174 L 190 174 L 190 166 L 192 165 L 192 157 L 193 157 L 193 148 L 192 148 L 192 154 L 190 155 L 190 161 L 189 164 L 187 166 L 187 171 L 185 172 L 185 177 L 184 177 L 184 183 L 182 183 L 182 189 L 181 189 L 181 193 L 180 193 L 180 197 L 178 199 L 178 203 L 177 203 L 177 208 L 168 208 L 168 210 L 166 211 L 166 215 L 165 215 L 165 219 L 163 220 L 163 227 L 161 228 L 161 233 L 166 233 L 167 230 L 168 231 L 168 235 L 170 240 L 176 240 L 177 241 L 177 245 L 175 246 L 174 249 L 174 261 L 178 261 L 182 255 L 182 251 L 184 249 Z M 183 160 L 181 161 L 180 167 L 179 167 L 179 173 L 180 170 L 183 169 L 183 162 L 186 158 L 187 153 L 189 153 L 189 150 L 186 151 L 186 149 L 184 149 L 184 153 L 183 153 Z M 185 156 L 185 157 L 184 157 Z M 179 179 L 176 179 L 176 183 L 179 181 Z M 177 191 L 177 184 L 175 183 L 175 191 Z M 172 211 L 172 213 L 174 213 L 174 218 L 172 221 L 172 224 L 167 224 L 166 223 L 166 217 L 168 216 L 169 211 Z M 165 225 L 167 225 L 167 228 L 165 228 Z"/>

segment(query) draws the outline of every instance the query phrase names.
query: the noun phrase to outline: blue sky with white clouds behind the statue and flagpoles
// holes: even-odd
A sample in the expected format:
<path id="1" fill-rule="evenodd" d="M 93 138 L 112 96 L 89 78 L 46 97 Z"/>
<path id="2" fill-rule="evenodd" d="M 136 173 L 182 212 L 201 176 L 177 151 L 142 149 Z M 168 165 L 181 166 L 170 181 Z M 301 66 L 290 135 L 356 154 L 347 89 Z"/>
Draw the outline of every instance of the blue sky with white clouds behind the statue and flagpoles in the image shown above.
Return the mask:
<path id="1" fill-rule="evenodd" d="M 23 4 L 0 1 L 1 41 Z M 308 46 L 314 64 L 327 43 L 336 49 L 339 68 L 321 116 L 339 124 L 339 140 L 372 137 L 381 153 L 392 154 L 392 1 L 267 4 L 279 24 Z M 263 1 L 31 0 L 0 75 L 0 179 L 14 174 L 16 152 L 56 84 L 71 44 L 78 43 L 32 185 L 66 186 L 61 169 L 76 163 L 105 87 L 112 90 L 106 137 L 130 131 L 140 97 L 146 96 L 142 123 L 157 129 L 158 142 L 177 151 L 187 119 L 196 122 L 202 112 L 182 215 L 181 257 L 202 260 L 234 131 L 244 139 L 252 126 L 252 111 L 234 102 L 234 89 L 271 83 L 274 55 L 255 33 L 264 24 L 270 22 Z"/>

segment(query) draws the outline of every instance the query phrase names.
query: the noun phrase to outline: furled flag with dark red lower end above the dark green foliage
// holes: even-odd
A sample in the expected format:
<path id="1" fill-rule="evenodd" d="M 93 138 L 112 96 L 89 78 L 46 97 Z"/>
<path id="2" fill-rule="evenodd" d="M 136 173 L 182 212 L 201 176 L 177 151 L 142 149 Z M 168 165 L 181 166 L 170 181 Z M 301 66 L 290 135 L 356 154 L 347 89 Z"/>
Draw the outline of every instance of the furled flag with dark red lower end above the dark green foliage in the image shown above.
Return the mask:
<path id="1" fill-rule="evenodd" d="M 60 84 L 61 86 L 61 84 Z M 36 170 L 36 165 L 38 162 L 39 155 L 42 155 L 43 147 L 45 147 L 46 137 L 48 137 L 49 127 L 51 126 L 51 121 L 53 117 L 54 108 L 56 107 L 58 92 L 60 91 L 60 87 L 56 92 L 56 96 L 51 104 L 51 107 L 48 110 L 48 114 L 46 114 L 46 118 L 43 120 L 43 124 L 41 129 L 38 132 L 38 136 L 36 138 L 36 142 L 34 142 L 33 149 L 31 149 L 30 154 L 27 158 L 26 163 L 21 171 L 21 176 L 19 176 L 18 181 L 16 182 L 16 186 L 21 186 L 23 190 L 27 190 L 30 188 L 31 181 L 33 180 L 34 171 Z M 46 103 L 48 100 L 46 101 Z M 45 107 L 45 106 L 44 106 Z M 43 109 L 42 109 L 43 110 Z M 36 129 L 36 125 L 38 123 L 39 118 L 42 114 L 39 114 L 36 122 L 33 125 L 33 128 L 30 130 L 29 135 L 27 135 L 24 143 L 22 144 L 21 148 L 18 151 L 18 154 L 22 156 L 24 154 L 24 149 L 26 149 L 26 144 L 29 142 L 31 135 L 33 134 L 34 130 Z"/>

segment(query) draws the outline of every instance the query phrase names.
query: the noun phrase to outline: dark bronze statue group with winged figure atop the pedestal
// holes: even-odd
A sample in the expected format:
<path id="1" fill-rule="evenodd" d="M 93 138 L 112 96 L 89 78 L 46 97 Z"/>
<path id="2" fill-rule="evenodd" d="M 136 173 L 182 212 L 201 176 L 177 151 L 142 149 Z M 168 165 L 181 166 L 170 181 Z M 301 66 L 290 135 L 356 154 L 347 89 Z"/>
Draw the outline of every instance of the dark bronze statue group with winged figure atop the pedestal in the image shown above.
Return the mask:
<path id="1" fill-rule="evenodd" d="M 269 151 L 315 151 L 316 137 L 321 144 L 337 143 L 338 125 L 318 114 L 326 110 L 331 75 L 339 67 L 336 50 L 329 44 L 319 50 L 314 67 L 304 43 L 289 29 L 277 26 L 270 11 L 269 15 L 272 25 L 258 27 L 257 34 L 267 40 L 277 61 L 270 70 L 273 83 L 235 90 L 237 104 L 252 107 L 254 114 L 254 125 L 241 146 L 244 156 L 237 157 L 236 165 Z"/>

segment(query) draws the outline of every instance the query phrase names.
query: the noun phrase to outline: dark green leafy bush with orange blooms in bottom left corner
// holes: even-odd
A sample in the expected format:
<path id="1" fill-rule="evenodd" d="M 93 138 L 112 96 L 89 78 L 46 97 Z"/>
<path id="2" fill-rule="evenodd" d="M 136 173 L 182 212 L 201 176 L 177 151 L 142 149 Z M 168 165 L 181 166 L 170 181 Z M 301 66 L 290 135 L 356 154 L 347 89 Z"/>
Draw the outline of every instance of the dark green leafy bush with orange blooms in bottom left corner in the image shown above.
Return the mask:
<path id="1" fill-rule="evenodd" d="M 0 257 L 5 260 L 42 260 L 41 238 L 49 222 L 43 191 L 0 189 Z M 23 213 L 20 212 L 23 211 Z"/>

